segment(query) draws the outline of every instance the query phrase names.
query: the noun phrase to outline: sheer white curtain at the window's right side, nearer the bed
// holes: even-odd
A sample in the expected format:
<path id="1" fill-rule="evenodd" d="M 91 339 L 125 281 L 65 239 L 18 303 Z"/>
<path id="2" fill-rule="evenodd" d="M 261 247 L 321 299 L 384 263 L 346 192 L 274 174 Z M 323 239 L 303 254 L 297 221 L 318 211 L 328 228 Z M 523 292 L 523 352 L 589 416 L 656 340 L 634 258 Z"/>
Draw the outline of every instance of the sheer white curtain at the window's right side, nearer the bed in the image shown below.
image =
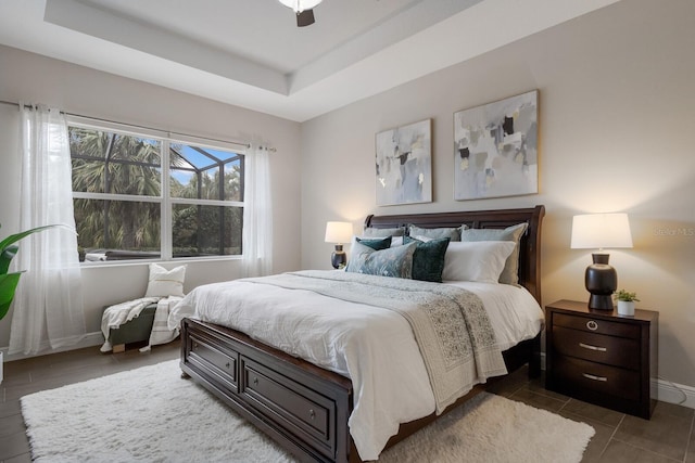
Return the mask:
<path id="1" fill-rule="evenodd" d="M 264 276 L 273 272 L 273 201 L 270 154 L 252 146 L 244 159 L 243 275 Z"/>

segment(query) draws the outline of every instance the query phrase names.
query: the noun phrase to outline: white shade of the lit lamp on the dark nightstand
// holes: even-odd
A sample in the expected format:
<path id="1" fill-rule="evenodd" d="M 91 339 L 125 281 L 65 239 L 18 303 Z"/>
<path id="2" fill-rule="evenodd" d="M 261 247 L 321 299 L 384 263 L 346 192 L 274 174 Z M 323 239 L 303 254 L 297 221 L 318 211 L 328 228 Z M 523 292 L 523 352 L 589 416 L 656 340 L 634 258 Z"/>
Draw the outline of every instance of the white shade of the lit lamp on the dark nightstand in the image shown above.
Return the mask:
<path id="1" fill-rule="evenodd" d="M 572 218 L 570 247 L 616 248 L 632 247 L 627 214 L 584 214 Z"/>

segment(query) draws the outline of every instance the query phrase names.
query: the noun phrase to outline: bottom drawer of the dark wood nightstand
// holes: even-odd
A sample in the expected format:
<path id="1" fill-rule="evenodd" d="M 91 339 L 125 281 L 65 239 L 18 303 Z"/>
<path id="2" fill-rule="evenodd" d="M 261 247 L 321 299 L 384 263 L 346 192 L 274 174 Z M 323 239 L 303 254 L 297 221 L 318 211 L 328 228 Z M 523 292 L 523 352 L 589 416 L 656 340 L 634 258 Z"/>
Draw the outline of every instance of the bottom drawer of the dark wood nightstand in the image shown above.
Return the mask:
<path id="1" fill-rule="evenodd" d="M 568 387 L 590 389 L 627 400 L 641 398 L 639 372 L 564 356 L 556 357 L 553 368 L 560 388 L 571 385 Z"/>

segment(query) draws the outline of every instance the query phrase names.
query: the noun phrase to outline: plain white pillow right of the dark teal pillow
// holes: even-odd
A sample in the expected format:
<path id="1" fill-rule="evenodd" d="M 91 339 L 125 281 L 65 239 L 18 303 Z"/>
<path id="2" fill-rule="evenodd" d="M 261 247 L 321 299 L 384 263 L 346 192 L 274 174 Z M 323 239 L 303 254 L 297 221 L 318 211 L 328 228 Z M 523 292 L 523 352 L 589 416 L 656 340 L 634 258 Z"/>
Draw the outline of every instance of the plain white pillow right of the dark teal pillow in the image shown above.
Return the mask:
<path id="1" fill-rule="evenodd" d="M 442 280 L 497 283 L 515 246 L 511 241 L 452 241 L 444 255 Z"/>

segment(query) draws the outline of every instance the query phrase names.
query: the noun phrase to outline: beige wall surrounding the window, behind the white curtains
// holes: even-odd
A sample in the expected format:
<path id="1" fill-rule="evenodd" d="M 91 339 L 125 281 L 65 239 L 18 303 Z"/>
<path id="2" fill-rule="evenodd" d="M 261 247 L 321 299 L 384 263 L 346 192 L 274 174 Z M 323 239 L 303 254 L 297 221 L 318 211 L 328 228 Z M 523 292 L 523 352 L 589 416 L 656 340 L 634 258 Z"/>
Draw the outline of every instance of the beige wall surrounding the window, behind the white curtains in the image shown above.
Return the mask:
<path id="1" fill-rule="evenodd" d="M 0 100 L 45 103 L 68 113 L 167 131 L 252 141 L 277 149 L 271 157 L 275 271 L 300 267 L 300 125 L 162 87 L 0 47 Z M 0 236 L 17 231 L 18 110 L 0 104 Z M 238 260 L 191 262 L 186 291 L 239 275 Z M 87 331 L 98 333 L 104 305 L 142 297 L 147 265 L 85 268 Z M 0 321 L 0 348 L 8 346 L 10 319 Z M 98 337 L 97 337 L 98 338 Z"/>

